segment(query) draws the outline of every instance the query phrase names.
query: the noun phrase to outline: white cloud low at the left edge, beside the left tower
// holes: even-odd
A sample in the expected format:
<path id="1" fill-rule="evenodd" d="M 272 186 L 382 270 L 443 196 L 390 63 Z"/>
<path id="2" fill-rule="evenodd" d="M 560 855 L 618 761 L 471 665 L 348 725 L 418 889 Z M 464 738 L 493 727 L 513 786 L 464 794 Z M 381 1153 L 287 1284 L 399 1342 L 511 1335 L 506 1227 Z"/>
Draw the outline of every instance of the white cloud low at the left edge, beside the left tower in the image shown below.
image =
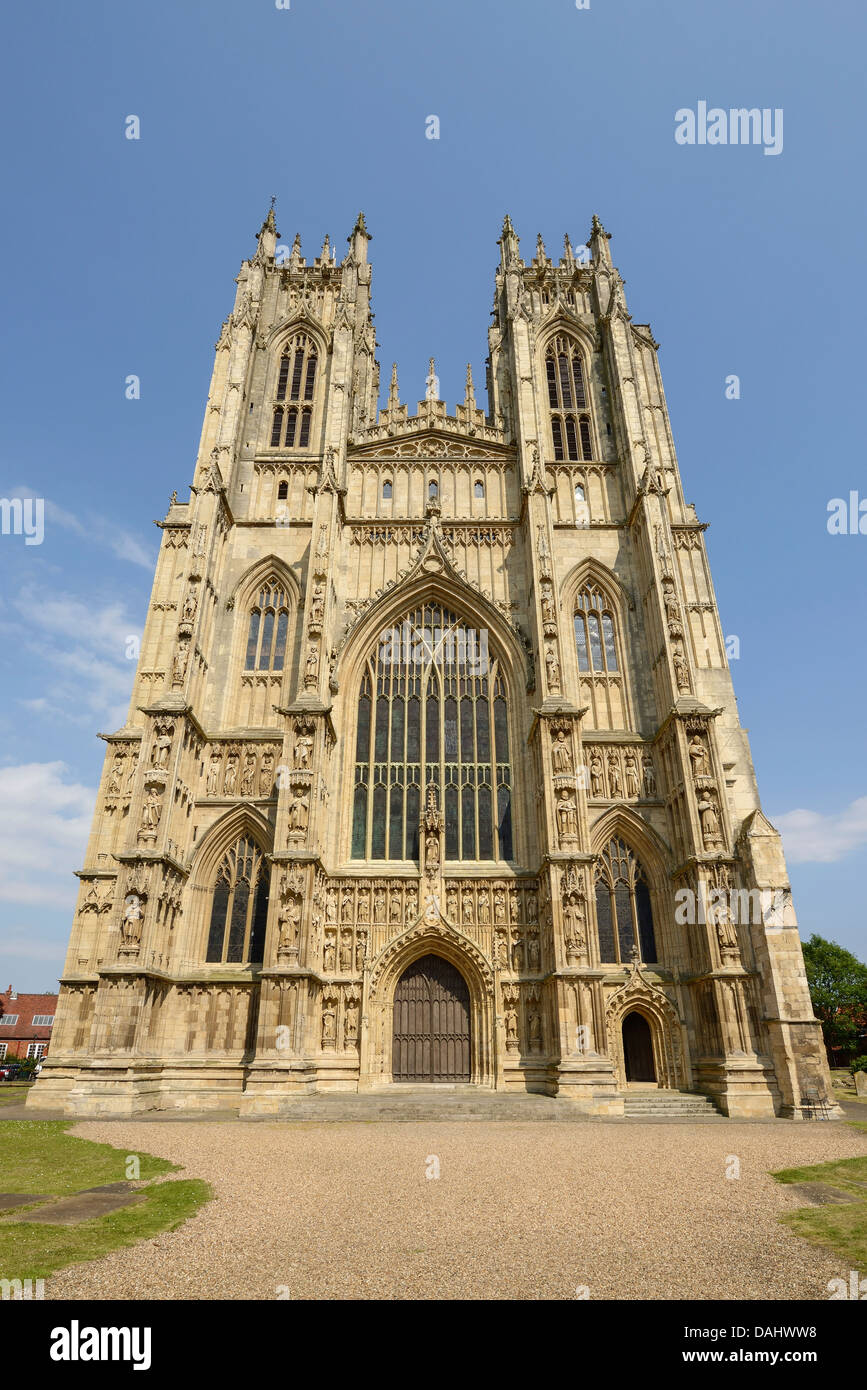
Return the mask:
<path id="1" fill-rule="evenodd" d="M 61 762 L 0 767 L 0 901 L 75 905 L 96 794 L 67 771 Z"/>

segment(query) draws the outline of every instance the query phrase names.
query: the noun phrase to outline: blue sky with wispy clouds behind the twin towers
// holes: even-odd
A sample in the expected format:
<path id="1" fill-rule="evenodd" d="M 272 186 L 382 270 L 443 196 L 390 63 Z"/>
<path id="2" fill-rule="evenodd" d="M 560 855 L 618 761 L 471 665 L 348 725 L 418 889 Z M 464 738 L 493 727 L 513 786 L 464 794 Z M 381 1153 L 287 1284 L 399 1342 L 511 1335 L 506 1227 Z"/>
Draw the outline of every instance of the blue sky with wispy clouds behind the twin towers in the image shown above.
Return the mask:
<path id="1" fill-rule="evenodd" d="M 484 384 L 496 238 L 596 211 L 650 322 L 802 934 L 864 955 L 863 6 L 804 0 L 149 0 L 4 25 L 0 987 L 60 973 L 107 733 L 213 345 L 274 193 L 304 253 L 374 235 L 383 379 Z M 675 111 L 782 108 L 784 147 L 682 146 Z M 425 118 L 439 117 L 439 140 Z M 140 139 L 124 136 L 138 115 Z M 128 374 L 140 400 L 126 400 Z M 725 399 L 725 378 L 741 399 Z"/>

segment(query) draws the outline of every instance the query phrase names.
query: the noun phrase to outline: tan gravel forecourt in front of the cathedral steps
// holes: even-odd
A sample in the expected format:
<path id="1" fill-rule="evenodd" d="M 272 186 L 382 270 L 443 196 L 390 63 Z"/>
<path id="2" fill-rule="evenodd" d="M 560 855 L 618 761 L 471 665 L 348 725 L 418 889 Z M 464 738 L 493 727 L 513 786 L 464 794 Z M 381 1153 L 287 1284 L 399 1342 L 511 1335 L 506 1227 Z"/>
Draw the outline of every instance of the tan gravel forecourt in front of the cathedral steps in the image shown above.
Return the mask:
<path id="1" fill-rule="evenodd" d="M 83 1122 L 213 1183 L 179 1230 L 50 1298 L 827 1298 L 768 1169 L 864 1154 L 843 1125 Z M 728 1155 L 741 1177 L 727 1180 Z M 425 1177 L 436 1155 L 438 1179 Z M 432 1165 L 431 1165 L 432 1166 Z M 182 1176 L 182 1175 L 175 1175 Z"/>

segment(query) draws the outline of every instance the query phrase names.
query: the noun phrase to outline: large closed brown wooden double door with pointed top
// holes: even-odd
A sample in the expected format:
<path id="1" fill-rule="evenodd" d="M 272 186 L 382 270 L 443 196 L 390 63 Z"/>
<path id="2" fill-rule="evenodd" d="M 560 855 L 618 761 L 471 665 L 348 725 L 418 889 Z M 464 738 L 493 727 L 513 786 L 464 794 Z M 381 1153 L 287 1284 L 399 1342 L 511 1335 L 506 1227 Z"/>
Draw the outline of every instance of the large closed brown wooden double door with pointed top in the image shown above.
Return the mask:
<path id="1" fill-rule="evenodd" d="M 397 981 L 392 1080 L 470 1080 L 470 990 L 442 956 L 413 960 Z"/>

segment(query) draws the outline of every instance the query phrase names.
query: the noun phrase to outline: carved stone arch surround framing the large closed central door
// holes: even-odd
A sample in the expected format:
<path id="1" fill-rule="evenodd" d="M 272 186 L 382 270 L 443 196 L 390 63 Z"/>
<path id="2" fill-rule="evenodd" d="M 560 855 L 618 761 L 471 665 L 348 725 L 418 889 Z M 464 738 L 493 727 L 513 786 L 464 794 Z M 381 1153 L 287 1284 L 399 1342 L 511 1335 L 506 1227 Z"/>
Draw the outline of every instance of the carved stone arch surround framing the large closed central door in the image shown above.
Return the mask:
<path id="1" fill-rule="evenodd" d="M 404 970 L 425 955 L 449 960 L 465 980 L 471 1011 L 470 1077 L 477 1086 L 492 1087 L 496 1077 L 493 972 L 479 948 L 439 915 L 432 920 L 422 917 L 389 942 L 372 965 L 367 995 L 370 1026 L 361 1052 L 364 1084 L 377 1086 L 392 1079 L 395 990 Z"/>

